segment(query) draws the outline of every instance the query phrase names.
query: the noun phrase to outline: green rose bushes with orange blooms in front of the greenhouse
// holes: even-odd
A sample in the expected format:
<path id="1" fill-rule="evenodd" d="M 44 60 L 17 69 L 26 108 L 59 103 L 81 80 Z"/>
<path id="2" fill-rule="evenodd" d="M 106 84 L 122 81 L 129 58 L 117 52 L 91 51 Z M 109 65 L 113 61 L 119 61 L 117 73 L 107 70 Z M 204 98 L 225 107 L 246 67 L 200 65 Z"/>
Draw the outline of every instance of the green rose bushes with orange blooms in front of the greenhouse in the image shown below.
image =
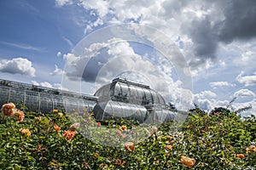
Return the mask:
<path id="1" fill-rule="evenodd" d="M 195 105 L 196 106 L 196 105 Z M 255 116 L 241 119 L 235 112 L 218 109 L 207 114 L 197 106 L 189 111 L 186 122 L 170 131 L 173 122 L 165 122 L 148 132 L 148 138 L 118 148 L 85 138 L 78 128 L 90 125 L 129 130 L 137 122 L 114 119 L 93 125 L 92 114 L 83 113 L 84 124 L 59 111 L 49 114 L 26 112 L 23 122 L 0 116 L 0 167 L 2 169 L 253 169 L 256 152 Z M 81 121 L 81 120 L 80 120 Z M 105 123 L 105 124 L 104 124 Z M 87 125 L 87 126 L 86 126 Z M 20 133 L 28 129 L 30 135 Z M 70 132 L 63 135 L 65 132 Z M 124 133 L 125 133 L 124 132 Z M 95 135 L 95 134 L 94 134 Z M 99 138 L 97 138 L 99 139 Z M 113 133 L 110 140 L 118 141 Z M 125 141 L 126 137 L 121 142 Z"/>

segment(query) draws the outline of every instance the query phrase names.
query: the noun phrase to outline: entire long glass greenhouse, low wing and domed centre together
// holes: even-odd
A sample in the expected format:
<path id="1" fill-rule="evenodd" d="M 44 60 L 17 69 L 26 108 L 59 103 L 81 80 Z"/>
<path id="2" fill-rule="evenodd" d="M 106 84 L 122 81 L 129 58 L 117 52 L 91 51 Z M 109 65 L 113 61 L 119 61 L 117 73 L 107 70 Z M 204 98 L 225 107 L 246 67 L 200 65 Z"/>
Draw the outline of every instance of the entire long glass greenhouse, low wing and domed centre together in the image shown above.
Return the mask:
<path id="1" fill-rule="evenodd" d="M 0 105 L 13 102 L 26 105 L 27 111 L 48 113 L 93 112 L 97 121 L 125 118 L 138 122 L 164 122 L 177 114 L 165 99 L 149 86 L 116 78 L 94 95 L 44 88 L 22 82 L 0 80 Z"/>

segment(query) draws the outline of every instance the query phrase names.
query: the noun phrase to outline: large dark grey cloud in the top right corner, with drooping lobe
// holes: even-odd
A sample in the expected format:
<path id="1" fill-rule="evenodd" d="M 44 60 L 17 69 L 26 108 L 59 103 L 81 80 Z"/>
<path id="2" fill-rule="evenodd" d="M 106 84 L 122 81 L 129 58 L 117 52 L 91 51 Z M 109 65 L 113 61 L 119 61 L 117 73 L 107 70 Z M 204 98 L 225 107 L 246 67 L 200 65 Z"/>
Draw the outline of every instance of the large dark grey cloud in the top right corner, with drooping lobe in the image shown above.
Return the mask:
<path id="1" fill-rule="evenodd" d="M 255 0 L 217 1 L 202 6 L 204 10 L 212 8 L 214 12 L 181 26 L 194 42 L 194 59 L 189 63 L 191 67 L 204 64 L 207 59 L 216 59 L 219 42 L 230 43 L 256 37 Z"/>

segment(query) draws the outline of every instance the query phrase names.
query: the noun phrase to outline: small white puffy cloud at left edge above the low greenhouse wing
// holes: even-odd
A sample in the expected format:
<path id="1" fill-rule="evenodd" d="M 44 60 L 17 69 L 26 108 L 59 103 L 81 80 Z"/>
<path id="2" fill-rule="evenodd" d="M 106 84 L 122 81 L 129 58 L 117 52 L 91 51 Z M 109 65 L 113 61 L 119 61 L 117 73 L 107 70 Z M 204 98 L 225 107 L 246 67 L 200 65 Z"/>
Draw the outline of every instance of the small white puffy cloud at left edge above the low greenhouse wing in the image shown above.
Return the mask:
<path id="1" fill-rule="evenodd" d="M 36 69 L 32 66 L 32 62 L 24 58 L 1 59 L 0 71 L 10 74 L 20 74 L 29 77 L 35 77 Z"/>

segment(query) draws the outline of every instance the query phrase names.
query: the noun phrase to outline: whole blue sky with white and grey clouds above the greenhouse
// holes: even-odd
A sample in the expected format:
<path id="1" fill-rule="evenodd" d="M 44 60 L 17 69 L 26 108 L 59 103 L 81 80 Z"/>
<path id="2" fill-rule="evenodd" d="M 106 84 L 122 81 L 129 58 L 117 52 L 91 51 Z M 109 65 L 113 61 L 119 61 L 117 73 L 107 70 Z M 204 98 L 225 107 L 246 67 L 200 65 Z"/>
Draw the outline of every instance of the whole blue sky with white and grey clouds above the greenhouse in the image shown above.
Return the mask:
<path id="1" fill-rule="evenodd" d="M 0 23 L 1 79 L 94 94 L 125 77 L 256 115 L 254 0 L 2 0 Z"/>

